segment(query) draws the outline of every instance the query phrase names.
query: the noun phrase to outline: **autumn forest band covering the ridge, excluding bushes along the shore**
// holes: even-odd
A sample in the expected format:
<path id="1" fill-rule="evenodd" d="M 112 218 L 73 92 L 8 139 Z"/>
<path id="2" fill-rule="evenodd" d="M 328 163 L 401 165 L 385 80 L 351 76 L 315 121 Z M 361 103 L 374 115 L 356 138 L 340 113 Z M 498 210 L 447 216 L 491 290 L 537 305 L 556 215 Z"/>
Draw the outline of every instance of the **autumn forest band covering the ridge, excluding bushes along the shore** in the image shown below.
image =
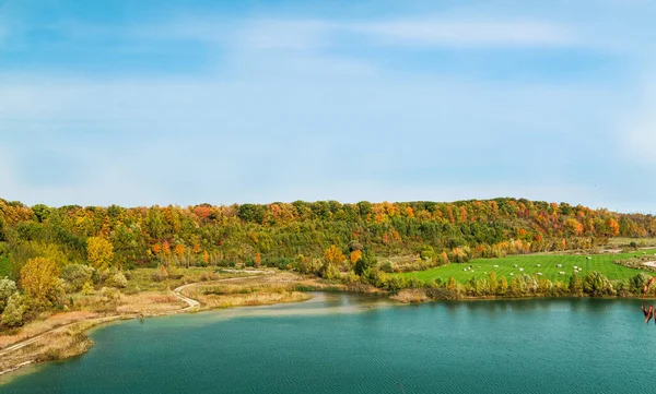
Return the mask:
<path id="1" fill-rule="evenodd" d="M 33 258 L 48 258 L 59 266 L 92 263 L 122 270 L 161 264 L 298 270 L 303 262 L 323 258 L 331 246 L 349 259 L 361 250 L 383 256 L 421 254 L 434 264 L 447 264 L 588 249 L 609 237 L 655 232 L 652 215 L 515 199 L 132 208 L 30 207 L 0 200 L 0 276 L 16 279 Z M 90 248 L 99 243 L 112 249 L 112 261 L 89 261 Z"/>

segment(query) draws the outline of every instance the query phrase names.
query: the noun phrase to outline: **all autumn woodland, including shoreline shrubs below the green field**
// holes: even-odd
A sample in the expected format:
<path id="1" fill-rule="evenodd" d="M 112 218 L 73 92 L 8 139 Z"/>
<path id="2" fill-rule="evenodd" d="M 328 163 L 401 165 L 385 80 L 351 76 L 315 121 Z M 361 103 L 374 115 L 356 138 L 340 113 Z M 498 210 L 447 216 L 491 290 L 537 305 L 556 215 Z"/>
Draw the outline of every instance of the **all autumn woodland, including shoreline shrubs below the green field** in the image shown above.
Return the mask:
<path id="1" fill-rule="evenodd" d="M 13 312 L 61 306 L 65 294 L 93 291 L 103 284 L 125 287 L 126 273 L 134 268 L 156 268 L 152 280 L 162 280 L 192 266 L 278 267 L 391 292 L 426 286 L 495 294 L 496 279 L 461 287 L 453 280 L 423 284 L 390 273 L 477 258 L 590 249 L 611 237 L 655 232 L 652 215 L 507 198 L 128 208 L 27 206 L 0 200 L 0 311 L 11 305 L 12 313 L 3 314 L 4 324 L 11 325 Z M 410 263 L 379 263 L 380 258 L 398 256 Z M 513 290 L 518 280 L 508 284 L 509 294 L 524 295 Z M 539 288 L 529 285 L 519 287 Z M 548 286 L 555 295 L 569 287 Z"/>

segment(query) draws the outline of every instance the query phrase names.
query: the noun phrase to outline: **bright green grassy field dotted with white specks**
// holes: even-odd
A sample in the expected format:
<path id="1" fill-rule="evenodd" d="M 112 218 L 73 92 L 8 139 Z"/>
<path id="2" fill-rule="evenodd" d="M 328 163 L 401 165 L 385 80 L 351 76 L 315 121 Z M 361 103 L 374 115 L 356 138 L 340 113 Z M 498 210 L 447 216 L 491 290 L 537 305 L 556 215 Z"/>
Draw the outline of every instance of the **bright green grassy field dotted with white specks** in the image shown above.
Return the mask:
<path id="1" fill-rule="evenodd" d="M 421 280 L 432 280 L 434 278 L 448 279 L 449 276 L 456 278 L 460 283 L 466 283 L 472 277 L 482 278 L 487 277 L 488 273 L 494 271 L 497 277 L 505 276 L 506 279 L 511 279 L 514 275 L 529 274 L 537 275 L 542 273 L 543 277 L 551 280 L 570 280 L 570 276 L 574 271 L 574 266 L 583 268 L 579 275 L 586 275 L 588 272 L 598 271 L 606 275 L 609 279 L 622 279 L 635 276 L 640 270 L 626 268 L 624 266 L 614 264 L 613 261 L 619 259 L 629 259 L 634 255 L 654 254 L 655 250 L 641 250 L 632 253 L 619 253 L 619 254 L 593 254 L 591 260 L 587 260 L 585 255 L 569 255 L 569 254 L 526 254 L 526 255 L 513 255 L 502 259 L 478 259 L 472 260 L 469 263 L 452 263 L 445 266 L 435 267 L 432 270 L 409 272 L 403 275 L 407 277 L 418 277 Z M 654 256 L 656 261 L 656 256 Z M 517 264 L 517 267 L 514 265 Z M 536 266 L 540 264 L 540 266 Z M 562 267 L 558 267 L 557 264 L 562 264 Z M 465 267 L 473 266 L 471 271 L 462 271 Z M 495 267 L 494 265 L 499 265 Z M 519 268 L 524 268 L 523 272 Z M 565 272 L 565 275 L 559 274 L 559 272 Z"/>

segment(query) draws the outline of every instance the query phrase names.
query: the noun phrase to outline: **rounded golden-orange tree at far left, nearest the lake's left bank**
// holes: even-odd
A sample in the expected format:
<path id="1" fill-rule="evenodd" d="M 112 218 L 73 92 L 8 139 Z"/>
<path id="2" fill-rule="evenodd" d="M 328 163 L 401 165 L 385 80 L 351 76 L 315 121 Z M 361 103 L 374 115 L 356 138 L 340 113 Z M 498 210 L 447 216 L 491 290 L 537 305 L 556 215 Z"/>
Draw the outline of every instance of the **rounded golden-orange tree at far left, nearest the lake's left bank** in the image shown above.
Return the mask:
<path id="1" fill-rule="evenodd" d="M 30 259 L 21 268 L 21 287 L 33 299 L 49 303 L 55 296 L 59 268 L 45 258 Z"/>

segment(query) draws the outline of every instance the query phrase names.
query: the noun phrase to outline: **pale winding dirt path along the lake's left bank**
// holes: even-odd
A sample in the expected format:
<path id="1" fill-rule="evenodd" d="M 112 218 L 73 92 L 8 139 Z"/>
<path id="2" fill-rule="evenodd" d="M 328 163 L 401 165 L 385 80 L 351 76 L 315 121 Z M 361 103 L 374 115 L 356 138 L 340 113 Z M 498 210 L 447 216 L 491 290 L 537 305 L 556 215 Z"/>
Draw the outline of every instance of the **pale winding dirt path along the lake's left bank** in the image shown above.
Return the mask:
<path id="1" fill-rule="evenodd" d="M 211 285 L 211 284 L 214 284 L 214 283 L 222 283 L 222 282 L 243 280 L 243 279 L 247 279 L 247 278 L 256 277 L 256 276 L 259 276 L 259 275 L 251 275 L 251 276 L 241 276 L 241 277 L 231 277 L 231 278 L 226 278 L 226 279 L 218 279 L 218 280 L 211 280 L 211 282 L 198 282 L 198 283 L 191 283 L 191 284 L 188 284 L 188 285 L 180 286 L 180 287 L 178 287 L 178 288 L 176 288 L 176 289 L 174 289 L 174 290 L 173 290 L 173 295 L 174 295 L 174 296 L 175 296 L 177 299 L 179 299 L 180 301 L 183 301 L 183 302 L 187 303 L 187 307 L 185 307 L 185 308 L 181 308 L 181 309 L 178 309 L 178 310 L 175 310 L 175 311 L 171 311 L 171 312 L 164 312 L 164 313 L 159 313 L 159 314 L 152 314 L 152 315 L 148 315 L 148 317 L 162 317 L 162 315 L 168 315 L 168 314 L 184 313 L 184 312 L 187 312 L 187 311 L 190 311 L 190 310 L 192 310 L 192 309 L 195 309 L 195 308 L 198 308 L 198 307 L 200 307 L 200 302 L 199 302 L 198 300 L 195 300 L 194 298 L 189 298 L 189 297 L 187 297 L 187 296 L 183 295 L 183 290 L 185 290 L 186 288 L 189 288 L 189 287 L 195 287 L 195 286 L 199 286 L 199 285 Z M 132 314 L 115 314 L 115 315 L 110 315 L 110 317 L 104 317 L 104 318 L 92 319 L 92 320 L 89 320 L 89 321 L 92 321 L 92 322 L 94 322 L 94 323 L 96 323 L 96 324 L 102 324 L 102 323 L 105 323 L 105 322 L 110 322 L 110 321 L 114 321 L 114 320 L 117 320 L 117 319 L 134 319 L 134 318 L 140 318 L 140 317 L 143 317 L 143 315 L 142 315 L 142 314 L 140 314 L 140 313 L 132 313 Z M 33 336 L 32 338 L 28 338 L 28 339 L 25 339 L 25 341 L 19 342 L 19 343 L 16 343 L 16 344 L 13 344 L 13 345 L 11 345 L 11 346 L 8 346 L 8 347 L 5 347 L 4 349 L 1 349 L 1 350 L 0 350 L 0 357 L 2 357 L 2 356 L 4 356 L 4 355 L 8 355 L 8 354 L 10 354 L 10 353 L 12 353 L 12 351 L 15 351 L 15 350 L 22 349 L 22 348 L 24 348 L 25 346 L 30 346 L 30 345 L 32 345 L 32 344 L 34 344 L 34 343 L 36 343 L 36 342 L 38 342 L 38 341 L 43 339 L 43 338 L 44 338 L 45 336 L 47 336 L 47 335 L 50 335 L 50 334 L 54 334 L 54 333 L 61 332 L 61 331 L 63 331 L 63 330 L 66 330 L 66 329 L 70 327 L 71 325 L 78 324 L 78 323 L 80 323 L 80 322 L 82 322 L 82 321 L 79 321 L 79 322 L 72 322 L 72 323 L 69 323 L 69 324 L 66 324 L 66 325 L 59 326 L 59 327 L 57 327 L 57 329 L 52 329 L 52 330 L 46 331 L 46 332 L 44 332 L 44 333 L 40 333 L 40 334 L 38 334 L 38 335 L 36 335 L 36 336 Z M 94 324 L 94 325 L 95 325 L 95 324 Z M 19 368 L 21 368 L 21 367 L 24 367 L 24 366 L 27 366 L 27 365 L 30 365 L 30 363 L 32 363 L 32 361 L 23 362 L 23 363 L 21 363 L 21 365 L 16 366 L 16 367 L 14 367 L 14 368 L 10 368 L 10 369 L 8 369 L 8 370 L 0 371 L 0 375 L 2 375 L 2 374 L 5 374 L 5 373 L 9 373 L 9 372 L 13 372 L 13 371 L 17 370 Z"/>

